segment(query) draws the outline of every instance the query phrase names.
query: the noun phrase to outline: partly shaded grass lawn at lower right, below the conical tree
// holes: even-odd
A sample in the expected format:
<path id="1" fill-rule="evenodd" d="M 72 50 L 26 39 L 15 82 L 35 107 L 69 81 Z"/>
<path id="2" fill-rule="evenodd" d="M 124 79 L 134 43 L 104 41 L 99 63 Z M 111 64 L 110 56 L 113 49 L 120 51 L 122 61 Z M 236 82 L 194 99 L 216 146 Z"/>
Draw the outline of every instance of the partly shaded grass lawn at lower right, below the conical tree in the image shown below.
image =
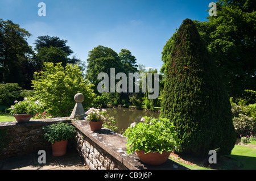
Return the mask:
<path id="1" fill-rule="evenodd" d="M 252 143 L 251 143 L 252 144 Z M 212 168 L 207 168 L 204 166 L 184 163 L 180 158 L 170 157 L 173 161 L 183 165 L 191 170 L 208 170 Z M 186 161 L 186 160 L 185 160 Z M 249 148 L 247 146 L 235 145 L 232 153 L 217 159 L 217 165 L 220 170 L 256 170 L 256 149 Z"/>

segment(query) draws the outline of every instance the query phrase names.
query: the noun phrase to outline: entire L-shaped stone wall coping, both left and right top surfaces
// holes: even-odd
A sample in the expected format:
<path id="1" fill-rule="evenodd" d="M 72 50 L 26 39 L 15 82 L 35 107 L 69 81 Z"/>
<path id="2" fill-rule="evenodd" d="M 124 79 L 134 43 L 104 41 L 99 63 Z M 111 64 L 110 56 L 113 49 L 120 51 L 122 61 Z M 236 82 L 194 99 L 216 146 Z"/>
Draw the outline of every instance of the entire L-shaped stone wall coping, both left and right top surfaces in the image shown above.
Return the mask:
<path id="1" fill-rule="evenodd" d="M 72 120 L 70 117 L 57 117 L 52 119 L 30 120 L 27 123 L 17 123 L 17 121 L 1 122 L 0 129 L 16 129 L 26 127 L 42 127 L 58 122 L 71 123 L 78 131 L 83 133 L 96 145 L 100 146 L 107 153 L 112 155 L 117 161 L 121 162 L 129 170 L 184 170 L 186 167 L 179 165 L 171 159 L 168 159 L 164 164 L 159 166 L 151 166 L 142 163 L 138 156 L 133 153 L 127 155 L 126 153 L 126 137 L 111 131 L 107 128 L 102 128 L 101 131 L 93 132 L 90 130 L 89 121 L 86 120 Z"/>

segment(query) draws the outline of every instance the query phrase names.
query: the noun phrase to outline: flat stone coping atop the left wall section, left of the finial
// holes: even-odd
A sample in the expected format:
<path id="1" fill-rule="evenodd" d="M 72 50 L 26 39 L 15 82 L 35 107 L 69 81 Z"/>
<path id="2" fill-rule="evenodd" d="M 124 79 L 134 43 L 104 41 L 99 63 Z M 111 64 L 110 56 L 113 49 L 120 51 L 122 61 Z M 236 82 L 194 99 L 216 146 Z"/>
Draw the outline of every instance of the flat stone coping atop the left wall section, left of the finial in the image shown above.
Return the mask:
<path id="1" fill-rule="evenodd" d="M 33 127 L 35 125 L 42 125 L 45 124 L 53 124 L 63 121 L 65 123 L 71 123 L 71 119 L 69 117 L 56 117 L 56 118 L 50 118 L 50 119 L 36 119 L 36 120 L 30 120 L 27 123 L 18 123 L 17 121 L 9 121 L 9 122 L 1 122 L 0 123 L 0 129 L 10 129 L 14 127 Z"/>

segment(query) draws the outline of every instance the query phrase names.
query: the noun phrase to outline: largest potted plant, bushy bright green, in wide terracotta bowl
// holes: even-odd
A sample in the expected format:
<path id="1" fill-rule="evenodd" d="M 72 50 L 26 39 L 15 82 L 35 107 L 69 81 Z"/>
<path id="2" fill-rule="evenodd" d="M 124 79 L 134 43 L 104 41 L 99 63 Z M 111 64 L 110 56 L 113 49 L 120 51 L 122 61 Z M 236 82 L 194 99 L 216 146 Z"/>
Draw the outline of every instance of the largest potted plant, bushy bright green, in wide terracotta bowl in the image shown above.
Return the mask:
<path id="1" fill-rule="evenodd" d="M 167 118 L 142 117 L 126 129 L 127 154 L 136 152 L 142 162 L 160 165 L 167 161 L 171 151 L 180 149 L 175 126 Z"/>

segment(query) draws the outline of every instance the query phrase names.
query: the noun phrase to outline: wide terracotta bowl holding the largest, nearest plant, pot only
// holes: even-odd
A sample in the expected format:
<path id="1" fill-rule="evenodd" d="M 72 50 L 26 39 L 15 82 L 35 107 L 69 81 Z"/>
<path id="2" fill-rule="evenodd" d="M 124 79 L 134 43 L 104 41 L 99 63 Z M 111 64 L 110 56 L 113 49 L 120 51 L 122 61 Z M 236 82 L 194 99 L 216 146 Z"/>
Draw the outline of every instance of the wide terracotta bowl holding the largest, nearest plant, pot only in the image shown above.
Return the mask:
<path id="1" fill-rule="evenodd" d="M 163 151 L 162 154 L 160 154 L 159 152 L 149 152 L 145 154 L 143 150 L 137 150 L 135 152 L 138 155 L 139 159 L 141 159 L 142 162 L 147 163 L 148 165 L 161 165 L 167 161 L 168 157 L 171 154 L 171 151 Z"/>

